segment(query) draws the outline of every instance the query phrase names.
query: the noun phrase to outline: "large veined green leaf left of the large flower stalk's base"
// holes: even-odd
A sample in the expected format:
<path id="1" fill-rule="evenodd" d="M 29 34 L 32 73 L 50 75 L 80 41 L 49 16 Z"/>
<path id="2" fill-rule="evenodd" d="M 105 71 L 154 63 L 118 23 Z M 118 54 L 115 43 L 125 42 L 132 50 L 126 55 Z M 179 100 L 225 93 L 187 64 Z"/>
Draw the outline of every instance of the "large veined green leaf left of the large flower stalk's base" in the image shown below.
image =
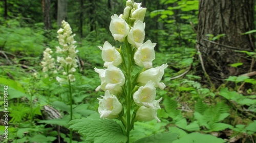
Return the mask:
<path id="1" fill-rule="evenodd" d="M 102 118 L 81 118 L 69 122 L 71 129 L 86 135 L 89 142 L 126 142 L 127 137 L 123 135 L 122 128 L 113 120 Z"/>

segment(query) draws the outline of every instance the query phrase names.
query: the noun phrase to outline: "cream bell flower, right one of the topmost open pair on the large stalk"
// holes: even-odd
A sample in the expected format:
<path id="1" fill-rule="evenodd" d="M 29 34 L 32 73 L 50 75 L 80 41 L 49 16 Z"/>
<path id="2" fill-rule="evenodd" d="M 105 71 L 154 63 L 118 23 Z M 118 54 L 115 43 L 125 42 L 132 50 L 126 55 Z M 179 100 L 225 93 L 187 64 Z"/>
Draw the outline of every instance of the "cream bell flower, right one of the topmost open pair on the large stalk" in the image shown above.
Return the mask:
<path id="1" fill-rule="evenodd" d="M 139 47 L 142 45 L 144 38 L 145 38 L 145 23 L 141 20 L 138 20 L 134 23 L 134 27 L 130 30 L 128 34 L 128 42 L 135 47 Z"/>

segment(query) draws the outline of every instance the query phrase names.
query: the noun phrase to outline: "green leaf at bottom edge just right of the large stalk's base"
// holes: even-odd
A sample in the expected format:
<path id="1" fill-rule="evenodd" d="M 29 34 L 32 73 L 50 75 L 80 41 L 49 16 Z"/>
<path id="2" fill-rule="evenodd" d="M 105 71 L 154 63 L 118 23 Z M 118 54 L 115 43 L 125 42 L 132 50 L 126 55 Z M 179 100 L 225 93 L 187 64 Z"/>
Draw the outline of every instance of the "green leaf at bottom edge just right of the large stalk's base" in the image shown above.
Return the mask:
<path id="1" fill-rule="evenodd" d="M 172 133 L 172 132 L 157 133 L 151 136 L 140 138 L 136 140 L 134 143 L 144 143 L 144 142 L 170 143 L 170 142 L 173 142 L 174 140 L 177 140 L 178 136 L 179 136 L 178 133 Z"/>

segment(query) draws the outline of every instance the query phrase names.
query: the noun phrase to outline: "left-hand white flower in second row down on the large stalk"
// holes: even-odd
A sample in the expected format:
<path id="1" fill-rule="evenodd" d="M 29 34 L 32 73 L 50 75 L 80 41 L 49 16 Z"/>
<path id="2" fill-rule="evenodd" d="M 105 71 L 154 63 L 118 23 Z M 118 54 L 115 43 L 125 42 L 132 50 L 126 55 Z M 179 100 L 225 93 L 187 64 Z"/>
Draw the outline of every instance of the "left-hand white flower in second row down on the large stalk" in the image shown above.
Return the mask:
<path id="1" fill-rule="evenodd" d="M 101 57 L 104 63 L 104 67 L 108 67 L 109 64 L 113 64 L 114 66 L 118 66 L 122 63 L 122 57 L 120 53 L 112 46 L 109 42 L 105 41 L 103 47 L 98 46 L 100 50 L 102 50 Z"/>

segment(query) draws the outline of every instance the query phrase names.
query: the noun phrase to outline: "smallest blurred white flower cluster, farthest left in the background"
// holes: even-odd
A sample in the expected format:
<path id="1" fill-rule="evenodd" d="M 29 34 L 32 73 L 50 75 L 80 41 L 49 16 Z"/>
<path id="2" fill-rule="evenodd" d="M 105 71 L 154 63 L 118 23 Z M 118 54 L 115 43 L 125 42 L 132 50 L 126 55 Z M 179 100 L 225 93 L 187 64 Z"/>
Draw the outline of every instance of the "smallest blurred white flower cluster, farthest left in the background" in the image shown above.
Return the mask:
<path id="1" fill-rule="evenodd" d="M 51 56 L 52 53 L 52 50 L 47 47 L 47 49 L 44 51 L 44 58 L 42 58 L 43 61 L 41 61 L 42 72 L 47 73 L 45 77 L 48 77 L 49 74 L 57 73 L 56 70 L 54 70 L 53 73 L 51 71 L 55 67 L 54 58 Z"/>

